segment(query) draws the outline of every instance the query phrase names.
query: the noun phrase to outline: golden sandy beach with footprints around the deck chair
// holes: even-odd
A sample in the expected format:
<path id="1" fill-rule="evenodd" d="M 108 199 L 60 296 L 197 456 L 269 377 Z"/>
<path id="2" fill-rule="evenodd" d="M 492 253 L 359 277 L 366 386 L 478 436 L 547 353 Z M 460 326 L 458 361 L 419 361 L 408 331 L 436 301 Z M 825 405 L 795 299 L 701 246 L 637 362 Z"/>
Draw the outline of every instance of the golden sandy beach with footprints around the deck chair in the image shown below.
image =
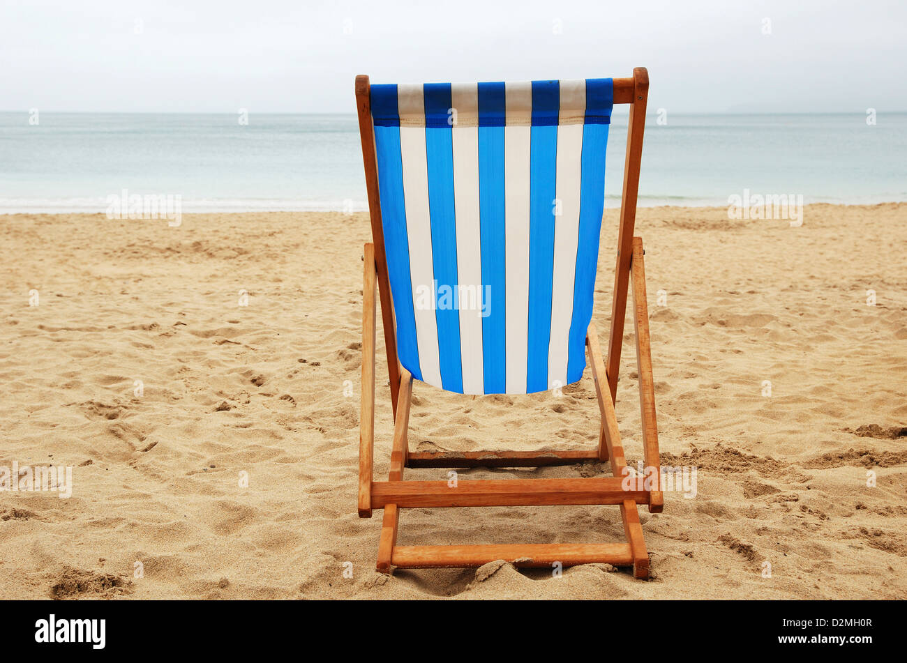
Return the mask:
<path id="1" fill-rule="evenodd" d="M 73 494 L 0 493 L 0 597 L 903 598 L 905 223 L 897 204 L 808 206 L 801 227 L 728 220 L 724 208 L 639 211 L 662 462 L 697 466 L 697 495 L 671 492 L 663 514 L 641 511 L 652 579 L 636 581 L 598 564 L 561 577 L 502 562 L 375 572 L 381 512 L 356 514 L 365 215 L 187 215 L 179 227 L 4 216 L 0 466 L 73 466 Z M 602 341 L 616 228 L 608 210 Z M 617 413 L 632 465 L 627 329 Z M 380 362 L 378 381 L 385 476 Z M 473 399 L 416 383 L 412 427 L 420 450 L 592 447 L 598 408 L 588 369 L 560 398 Z M 416 509 L 399 543 L 622 536 L 614 506 Z"/>

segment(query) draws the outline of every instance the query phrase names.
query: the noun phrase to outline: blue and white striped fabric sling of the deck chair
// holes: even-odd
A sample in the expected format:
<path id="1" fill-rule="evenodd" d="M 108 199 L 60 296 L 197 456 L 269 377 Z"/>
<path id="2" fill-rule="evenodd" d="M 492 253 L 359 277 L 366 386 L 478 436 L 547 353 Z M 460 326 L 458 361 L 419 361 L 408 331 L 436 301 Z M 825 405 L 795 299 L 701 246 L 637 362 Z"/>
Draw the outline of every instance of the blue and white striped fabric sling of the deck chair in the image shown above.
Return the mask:
<path id="1" fill-rule="evenodd" d="M 465 394 L 580 380 L 611 79 L 372 85 L 400 362 Z"/>

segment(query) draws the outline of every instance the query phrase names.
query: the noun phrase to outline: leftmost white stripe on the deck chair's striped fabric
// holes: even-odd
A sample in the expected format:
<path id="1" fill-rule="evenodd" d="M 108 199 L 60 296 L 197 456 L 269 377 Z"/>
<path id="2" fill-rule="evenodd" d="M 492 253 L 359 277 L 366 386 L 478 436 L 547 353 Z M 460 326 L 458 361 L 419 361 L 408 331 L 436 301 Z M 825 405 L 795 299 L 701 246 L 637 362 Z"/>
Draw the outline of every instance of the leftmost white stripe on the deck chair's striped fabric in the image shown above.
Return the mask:
<path id="1" fill-rule="evenodd" d="M 401 111 L 413 112 L 418 94 L 398 86 L 397 102 Z M 424 111 L 423 111 L 424 112 Z M 423 115 L 424 123 L 424 115 Z M 441 362 L 438 359 L 438 324 L 434 307 L 434 263 L 432 226 L 428 212 L 428 165 L 425 157 L 425 130 L 400 128 L 400 153 L 403 158 L 403 191 L 406 205 L 406 235 L 409 240 L 409 270 L 413 282 L 415 334 L 419 347 L 422 380 L 441 387 Z"/>

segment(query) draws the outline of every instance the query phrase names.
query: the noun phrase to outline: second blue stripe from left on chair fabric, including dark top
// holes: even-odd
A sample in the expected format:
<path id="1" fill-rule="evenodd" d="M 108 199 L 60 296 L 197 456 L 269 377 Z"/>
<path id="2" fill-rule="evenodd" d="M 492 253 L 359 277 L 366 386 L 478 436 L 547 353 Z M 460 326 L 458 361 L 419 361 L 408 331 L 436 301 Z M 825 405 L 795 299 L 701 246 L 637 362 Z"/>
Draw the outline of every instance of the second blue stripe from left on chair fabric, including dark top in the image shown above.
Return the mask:
<path id="1" fill-rule="evenodd" d="M 447 123 L 451 108 L 450 83 L 424 86 L 425 123 L 434 118 L 434 128 L 425 129 L 428 161 L 428 212 L 432 224 L 432 261 L 437 281 L 438 356 L 441 384 L 448 391 L 463 393 L 460 356 L 460 312 L 456 301 L 456 217 L 453 199 L 453 129 Z M 444 116 L 444 124 L 437 120 Z M 447 293 L 445 294 L 445 289 Z"/>

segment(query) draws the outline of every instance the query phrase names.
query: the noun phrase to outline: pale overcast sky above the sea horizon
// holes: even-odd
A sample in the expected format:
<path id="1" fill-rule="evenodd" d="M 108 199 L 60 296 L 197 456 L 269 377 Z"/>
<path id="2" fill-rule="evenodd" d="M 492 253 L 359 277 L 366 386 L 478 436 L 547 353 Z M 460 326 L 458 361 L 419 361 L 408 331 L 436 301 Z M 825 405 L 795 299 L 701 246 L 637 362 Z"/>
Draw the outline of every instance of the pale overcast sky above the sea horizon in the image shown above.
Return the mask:
<path id="1" fill-rule="evenodd" d="M 627 77 L 649 108 L 907 111 L 907 2 L 0 5 L 0 111 L 355 112 L 353 82 Z"/>

